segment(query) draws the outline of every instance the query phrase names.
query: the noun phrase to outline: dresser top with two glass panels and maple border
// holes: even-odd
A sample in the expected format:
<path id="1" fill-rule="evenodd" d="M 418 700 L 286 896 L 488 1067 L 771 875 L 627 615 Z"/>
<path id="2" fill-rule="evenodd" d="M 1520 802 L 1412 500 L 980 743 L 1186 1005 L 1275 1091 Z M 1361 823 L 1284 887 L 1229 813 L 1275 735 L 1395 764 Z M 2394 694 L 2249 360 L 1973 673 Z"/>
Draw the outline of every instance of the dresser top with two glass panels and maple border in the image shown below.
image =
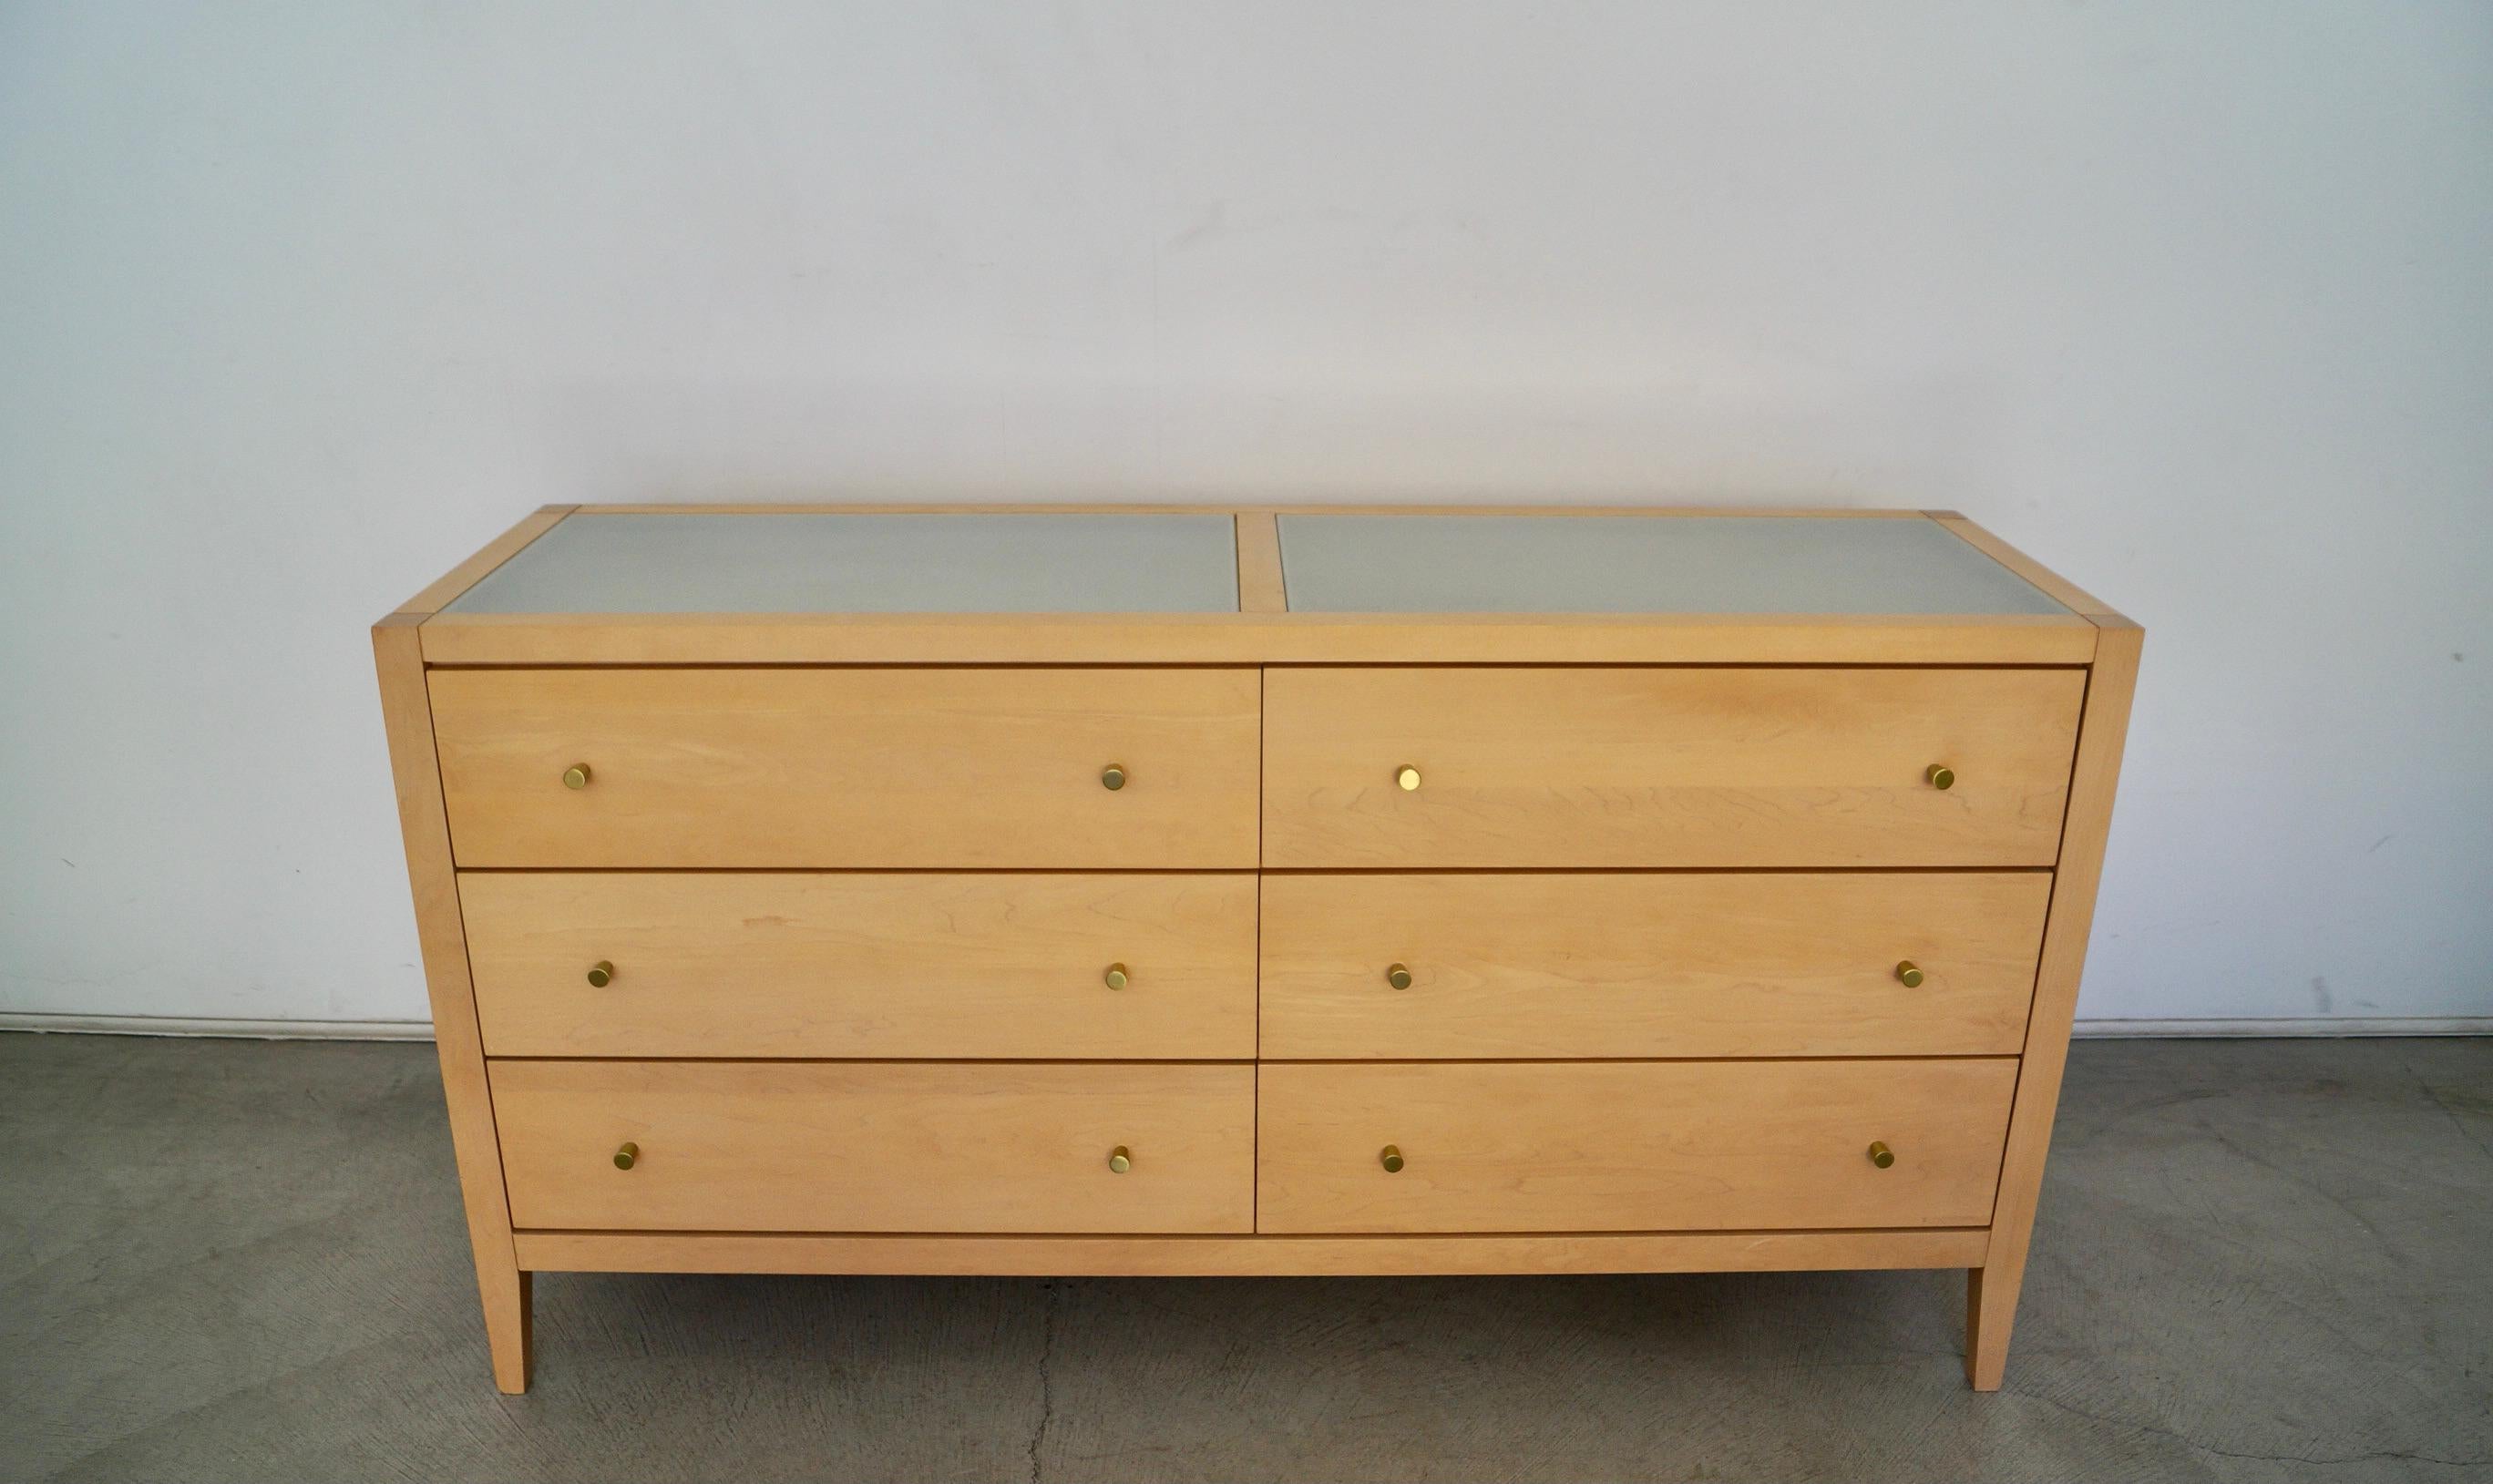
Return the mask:
<path id="1" fill-rule="evenodd" d="M 546 506 L 431 663 L 2087 663 L 2127 624 L 1952 511 Z"/>

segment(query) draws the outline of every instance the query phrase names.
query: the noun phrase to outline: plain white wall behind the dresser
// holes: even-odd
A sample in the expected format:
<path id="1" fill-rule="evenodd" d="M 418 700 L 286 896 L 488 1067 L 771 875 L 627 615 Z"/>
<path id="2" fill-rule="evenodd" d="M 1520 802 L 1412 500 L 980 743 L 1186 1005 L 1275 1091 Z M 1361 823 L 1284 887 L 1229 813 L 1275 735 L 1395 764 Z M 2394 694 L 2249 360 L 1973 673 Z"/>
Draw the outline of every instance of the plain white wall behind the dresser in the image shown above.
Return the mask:
<path id="1" fill-rule="evenodd" d="M 2493 7 L 0 7 L 0 1010 L 421 1018 L 543 501 L 1955 506 L 2146 624 L 2084 1015 L 2493 1013 Z"/>

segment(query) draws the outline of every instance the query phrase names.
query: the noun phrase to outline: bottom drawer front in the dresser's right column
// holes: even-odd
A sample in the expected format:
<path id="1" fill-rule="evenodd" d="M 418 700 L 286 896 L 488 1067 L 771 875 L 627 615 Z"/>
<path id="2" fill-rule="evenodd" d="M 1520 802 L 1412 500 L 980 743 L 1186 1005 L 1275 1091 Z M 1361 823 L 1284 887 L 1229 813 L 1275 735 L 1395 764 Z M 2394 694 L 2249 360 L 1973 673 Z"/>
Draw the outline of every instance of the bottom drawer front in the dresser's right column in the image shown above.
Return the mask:
<path id="1" fill-rule="evenodd" d="M 1979 1227 L 2017 1060 L 1264 1065 L 1261 1232 Z M 1870 1142 L 1895 1162 L 1880 1170 Z M 1389 1172 L 1381 1150 L 1404 1167 Z"/>

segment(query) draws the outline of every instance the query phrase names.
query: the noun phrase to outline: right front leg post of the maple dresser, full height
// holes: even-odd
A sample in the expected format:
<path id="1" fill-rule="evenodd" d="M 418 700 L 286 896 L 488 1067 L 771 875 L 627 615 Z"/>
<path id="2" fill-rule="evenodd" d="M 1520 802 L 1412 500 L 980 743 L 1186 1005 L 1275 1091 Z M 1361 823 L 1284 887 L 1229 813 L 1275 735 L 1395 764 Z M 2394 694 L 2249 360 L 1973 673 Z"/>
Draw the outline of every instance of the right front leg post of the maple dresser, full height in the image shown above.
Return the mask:
<path id="1" fill-rule="evenodd" d="M 2069 828 L 2052 885 L 2052 915 L 2042 935 L 2034 978 L 2034 1013 L 2027 1018 L 2024 1072 L 1999 1165 L 1999 1205 L 1992 1212 L 1992 1255 L 1972 1270 L 1964 1299 L 1964 1377 L 1977 1392 L 1997 1392 L 2007 1374 L 2017 1289 L 2024 1284 L 2034 1207 L 2042 1200 L 2042 1165 L 2052 1152 L 2052 1112 L 2069 1060 L 2069 1025 L 2077 985 L 2094 930 L 2094 888 L 2112 833 L 2112 796 L 2122 778 L 2129 736 L 2129 701 L 2139 683 L 2139 648 L 2146 634 L 2127 621 L 2104 626 L 2104 646 L 2087 683 L 2087 718 L 2069 781 Z"/>

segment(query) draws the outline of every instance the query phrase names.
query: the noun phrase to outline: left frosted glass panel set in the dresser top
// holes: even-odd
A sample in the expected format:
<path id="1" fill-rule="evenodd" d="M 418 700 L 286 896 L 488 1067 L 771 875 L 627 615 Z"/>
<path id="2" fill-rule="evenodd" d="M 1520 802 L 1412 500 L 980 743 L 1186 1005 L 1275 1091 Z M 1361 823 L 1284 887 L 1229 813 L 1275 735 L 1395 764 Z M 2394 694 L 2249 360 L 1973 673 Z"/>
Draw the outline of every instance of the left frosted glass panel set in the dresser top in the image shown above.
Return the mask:
<path id="1" fill-rule="evenodd" d="M 449 614 L 1234 614 L 1229 516 L 571 516 Z"/>

